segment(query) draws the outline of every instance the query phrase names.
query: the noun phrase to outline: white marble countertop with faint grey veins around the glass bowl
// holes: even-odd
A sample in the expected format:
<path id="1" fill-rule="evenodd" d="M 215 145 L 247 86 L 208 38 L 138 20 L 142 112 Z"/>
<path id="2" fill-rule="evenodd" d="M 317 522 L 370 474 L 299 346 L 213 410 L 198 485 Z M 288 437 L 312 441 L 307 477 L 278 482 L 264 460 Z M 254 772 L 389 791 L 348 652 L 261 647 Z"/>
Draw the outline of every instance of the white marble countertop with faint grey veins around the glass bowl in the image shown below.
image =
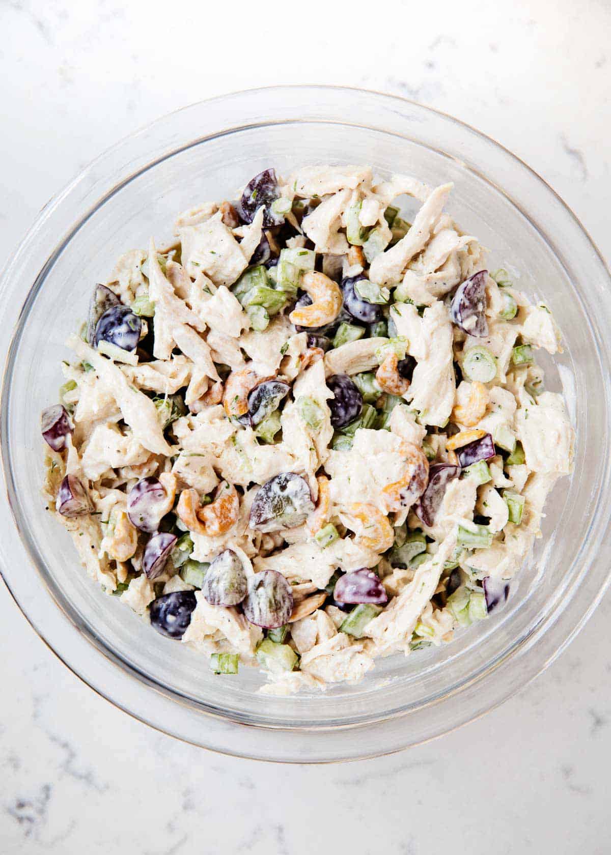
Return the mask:
<path id="1" fill-rule="evenodd" d="M 543 174 L 611 256 L 604 0 L 211 5 L 4 0 L 0 259 L 133 128 L 276 82 L 364 85 L 457 115 Z M 537 681 L 442 740 L 281 767 L 134 722 L 56 661 L 0 587 L 0 852 L 602 855 L 610 618 L 608 596 Z"/>

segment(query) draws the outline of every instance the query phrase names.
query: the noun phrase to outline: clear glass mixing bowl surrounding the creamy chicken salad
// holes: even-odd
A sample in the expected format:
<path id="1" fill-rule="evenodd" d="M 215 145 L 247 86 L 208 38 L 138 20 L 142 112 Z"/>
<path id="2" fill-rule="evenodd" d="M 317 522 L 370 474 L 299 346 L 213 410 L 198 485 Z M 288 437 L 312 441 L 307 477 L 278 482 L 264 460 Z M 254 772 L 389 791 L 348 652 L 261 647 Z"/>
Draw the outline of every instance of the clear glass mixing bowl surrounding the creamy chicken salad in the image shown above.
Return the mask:
<path id="1" fill-rule="evenodd" d="M 578 430 L 575 472 L 558 483 L 533 559 L 507 609 L 453 644 L 380 660 L 356 687 L 312 697 L 257 693 L 261 676 L 211 675 L 205 657 L 163 639 L 90 581 L 39 496 L 39 414 L 56 401 L 64 341 L 116 257 L 169 237 L 175 214 L 270 165 L 370 163 L 430 185 L 454 181 L 448 209 L 543 297 L 565 353 L 546 364 Z M 9 497 L 2 571 L 50 648 L 104 697 L 199 746 L 253 758 L 325 762 L 396 751 L 501 703 L 543 669 L 608 584 L 609 275 L 578 221 L 500 145 L 397 97 L 332 87 L 238 92 L 166 116 L 99 157 L 40 213 L 3 274 L 2 453 Z M 246 727 L 245 725 L 250 725 Z"/>

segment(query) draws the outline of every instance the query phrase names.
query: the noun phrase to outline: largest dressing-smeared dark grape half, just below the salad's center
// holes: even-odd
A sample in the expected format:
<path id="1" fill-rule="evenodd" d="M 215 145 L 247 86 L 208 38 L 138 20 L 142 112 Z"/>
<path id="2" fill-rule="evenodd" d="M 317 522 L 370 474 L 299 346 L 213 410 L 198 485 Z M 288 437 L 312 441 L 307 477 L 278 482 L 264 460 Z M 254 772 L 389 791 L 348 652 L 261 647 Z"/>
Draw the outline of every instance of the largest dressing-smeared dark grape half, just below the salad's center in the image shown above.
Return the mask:
<path id="1" fill-rule="evenodd" d="M 250 526 L 260 532 L 294 528 L 314 510 L 310 487 L 294 472 L 281 472 L 259 487 L 252 502 Z"/>

